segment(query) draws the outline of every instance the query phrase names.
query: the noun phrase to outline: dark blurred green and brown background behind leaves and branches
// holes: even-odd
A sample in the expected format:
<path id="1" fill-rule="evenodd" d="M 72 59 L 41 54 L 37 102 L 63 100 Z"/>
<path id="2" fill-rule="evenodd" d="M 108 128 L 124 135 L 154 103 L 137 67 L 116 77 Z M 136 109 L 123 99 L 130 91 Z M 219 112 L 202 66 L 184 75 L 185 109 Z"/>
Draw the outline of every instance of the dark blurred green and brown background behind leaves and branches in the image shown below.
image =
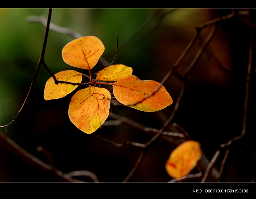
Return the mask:
<path id="1" fill-rule="evenodd" d="M 141 80 L 161 82 L 196 34 L 195 27 L 230 13 L 231 9 L 53 9 L 51 22 L 82 36 L 97 36 L 105 46 L 102 57 L 109 63 L 116 52 L 118 31 L 118 53 L 114 64 L 132 67 L 133 75 Z M 47 14 L 48 9 L 0 9 L 0 126 L 10 123 L 22 106 L 42 49 L 45 27 L 40 23 L 28 23 L 26 19 L 34 15 L 47 17 Z M 254 15 L 252 9 L 252 23 Z M 174 109 L 180 92 L 180 75 L 210 31 L 211 27 L 202 31 L 177 73 L 165 83 L 174 101 L 172 105 L 155 113 L 113 105 L 110 111 L 160 129 Z M 73 39 L 49 31 L 45 63 L 54 74 L 63 70 L 87 74 L 62 59 L 62 48 Z M 219 24 L 211 43 L 188 75 L 173 122 L 182 126 L 192 140 L 201 143 L 208 159 L 213 157 L 220 144 L 241 133 L 249 44 L 249 27 L 238 19 L 226 20 Z M 252 182 L 255 178 L 254 68 L 253 65 L 246 137 L 230 148 L 222 182 Z M 93 68 L 94 78 L 102 69 L 101 65 Z M 27 106 L 20 119 L 6 128 L 7 136 L 48 163 L 46 156 L 37 151 L 38 146 L 44 147 L 52 154 L 53 165 L 64 173 L 87 170 L 94 172 L 99 182 L 122 182 L 136 163 L 140 148 L 114 147 L 99 140 L 97 135 L 116 143 L 146 143 L 152 135 L 125 124 L 102 126 L 90 135 L 83 133 L 68 117 L 68 105 L 74 93 L 58 100 L 44 100 L 44 86 L 49 78 L 41 67 Z M 111 120 L 108 118 L 106 124 Z M 0 131 L 5 133 L 4 128 Z M 169 138 L 169 141 L 160 139 L 153 144 L 129 182 L 172 180 L 165 170 L 165 163 L 181 142 Z M 198 171 L 194 169 L 193 172 Z M 0 182 L 57 181 L 52 173 L 46 174 L 28 165 L 0 146 Z"/>

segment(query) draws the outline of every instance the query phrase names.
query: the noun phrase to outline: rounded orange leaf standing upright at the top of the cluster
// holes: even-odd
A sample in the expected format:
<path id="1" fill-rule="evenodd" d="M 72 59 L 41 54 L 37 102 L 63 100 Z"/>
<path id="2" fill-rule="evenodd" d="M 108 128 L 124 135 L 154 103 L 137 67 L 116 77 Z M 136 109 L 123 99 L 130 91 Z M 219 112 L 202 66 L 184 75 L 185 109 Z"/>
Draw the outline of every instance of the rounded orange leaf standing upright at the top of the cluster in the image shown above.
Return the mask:
<path id="1" fill-rule="evenodd" d="M 62 58 L 71 66 L 89 70 L 96 65 L 104 50 L 104 45 L 97 37 L 85 36 L 64 46 Z"/>

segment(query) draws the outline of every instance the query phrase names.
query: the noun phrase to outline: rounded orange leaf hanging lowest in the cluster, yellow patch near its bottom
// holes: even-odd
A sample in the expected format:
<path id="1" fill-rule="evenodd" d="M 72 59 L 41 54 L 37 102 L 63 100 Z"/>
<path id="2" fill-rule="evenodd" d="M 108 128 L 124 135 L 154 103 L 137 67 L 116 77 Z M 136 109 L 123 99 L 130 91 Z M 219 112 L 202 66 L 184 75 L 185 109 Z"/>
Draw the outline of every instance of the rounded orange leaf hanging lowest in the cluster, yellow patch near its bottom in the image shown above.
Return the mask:
<path id="1" fill-rule="evenodd" d="M 93 133 L 109 116 L 110 98 L 104 88 L 88 87 L 77 91 L 69 104 L 69 119 L 83 132 Z"/>

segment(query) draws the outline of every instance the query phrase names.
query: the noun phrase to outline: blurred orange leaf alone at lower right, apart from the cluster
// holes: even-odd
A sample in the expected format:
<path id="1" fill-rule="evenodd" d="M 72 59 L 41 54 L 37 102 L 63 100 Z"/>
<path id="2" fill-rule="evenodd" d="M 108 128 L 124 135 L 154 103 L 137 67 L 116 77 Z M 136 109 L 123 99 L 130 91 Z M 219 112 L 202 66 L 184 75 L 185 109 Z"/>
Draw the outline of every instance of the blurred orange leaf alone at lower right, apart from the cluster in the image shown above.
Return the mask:
<path id="1" fill-rule="evenodd" d="M 186 141 L 173 150 L 165 164 L 166 171 L 171 177 L 180 179 L 195 168 L 201 155 L 200 143 Z"/>

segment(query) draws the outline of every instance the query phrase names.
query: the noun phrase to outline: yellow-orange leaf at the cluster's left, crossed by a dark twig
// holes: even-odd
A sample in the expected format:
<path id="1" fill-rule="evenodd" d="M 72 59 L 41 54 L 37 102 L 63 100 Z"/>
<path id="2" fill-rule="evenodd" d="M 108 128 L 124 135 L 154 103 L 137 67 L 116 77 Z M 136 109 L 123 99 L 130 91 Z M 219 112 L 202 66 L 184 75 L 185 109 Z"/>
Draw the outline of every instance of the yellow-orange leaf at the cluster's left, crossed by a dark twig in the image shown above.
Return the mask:
<path id="1" fill-rule="evenodd" d="M 55 74 L 55 77 L 59 81 L 81 83 L 82 75 L 74 70 L 65 70 Z M 48 79 L 45 84 L 44 98 L 45 100 L 55 100 L 65 97 L 78 87 L 77 85 L 71 85 L 67 83 L 55 84 L 53 77 Z"/>

